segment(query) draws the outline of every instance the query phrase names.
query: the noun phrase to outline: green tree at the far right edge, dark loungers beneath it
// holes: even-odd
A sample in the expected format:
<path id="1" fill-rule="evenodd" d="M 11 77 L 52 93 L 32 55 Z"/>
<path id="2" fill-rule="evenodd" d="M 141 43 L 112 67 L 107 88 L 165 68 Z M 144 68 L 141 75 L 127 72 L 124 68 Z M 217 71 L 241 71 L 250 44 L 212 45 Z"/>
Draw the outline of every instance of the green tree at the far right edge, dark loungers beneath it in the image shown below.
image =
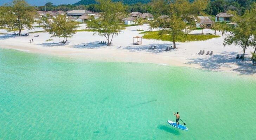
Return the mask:
<path id="1" fill-rule="evenodd" d="M 244 56 L 245 50 L 252 45 L 252 35 L 256 30 L 256 12 L 255 10 L 246 10 L 242 16 L 238 16 L 236 12 L 229 13 L 234 15 L 231 20 L 237 23 L 237 25 L 227 25 L 224 27 L 223 34 L 229 34 L 225 37 L 223 45 L 235 44 L 241 46 Z M 244 57 L 242 60 L 244 60 Z"/>

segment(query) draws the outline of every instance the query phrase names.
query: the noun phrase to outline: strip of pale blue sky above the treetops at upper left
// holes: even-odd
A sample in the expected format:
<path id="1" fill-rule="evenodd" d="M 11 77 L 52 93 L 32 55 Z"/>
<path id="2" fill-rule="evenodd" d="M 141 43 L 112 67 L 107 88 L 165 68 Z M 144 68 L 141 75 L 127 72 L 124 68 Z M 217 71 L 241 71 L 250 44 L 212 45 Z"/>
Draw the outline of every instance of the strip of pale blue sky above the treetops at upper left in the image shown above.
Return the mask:
<path id="1" fill-rule="evenodd" d="M 12 2 L 13 0 L 0 0 L 0 5 L 4 3 Z M 26 0 L 30 5 L 34 6 L 42 6 L 44 5 L 44 0 Z M 46 0 L 47 2 L 52 2 L 53 5 L 60 5 L 60 4 L 74 4 L 80 0 Z"/>

